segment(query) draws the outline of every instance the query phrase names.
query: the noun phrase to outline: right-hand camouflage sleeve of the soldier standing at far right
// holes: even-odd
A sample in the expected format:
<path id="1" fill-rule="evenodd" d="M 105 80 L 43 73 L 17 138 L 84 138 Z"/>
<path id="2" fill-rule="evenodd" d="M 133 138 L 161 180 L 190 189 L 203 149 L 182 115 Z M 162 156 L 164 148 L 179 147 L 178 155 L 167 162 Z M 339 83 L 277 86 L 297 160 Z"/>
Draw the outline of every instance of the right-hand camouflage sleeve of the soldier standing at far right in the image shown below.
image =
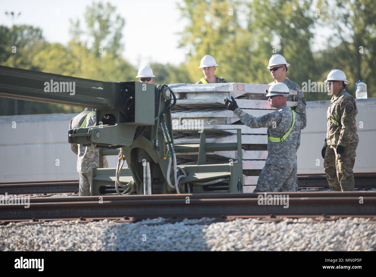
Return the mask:
<path id="1" fill-rule="evenodd" d="M 352 140 L 355 126 L 355 107 L 351 98 L 345 98 L 341 104 L 341 125 L 340 138 L 338 144 L 347 146 Z"/>

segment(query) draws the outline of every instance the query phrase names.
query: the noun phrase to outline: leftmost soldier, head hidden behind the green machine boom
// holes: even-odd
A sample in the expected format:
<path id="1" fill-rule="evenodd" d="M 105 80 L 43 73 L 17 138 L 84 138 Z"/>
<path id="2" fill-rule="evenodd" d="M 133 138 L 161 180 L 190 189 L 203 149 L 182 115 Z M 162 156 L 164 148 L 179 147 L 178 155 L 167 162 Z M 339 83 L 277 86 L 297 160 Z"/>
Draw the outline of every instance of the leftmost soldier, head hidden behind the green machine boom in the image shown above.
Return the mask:
<path id="1" fill-rule="evenodd" d="M 73 117 L 69 123 L 69 129 L 95 126 L 96 113 L 86 108 L 82 113 Z M 80 174 L 79 196 L 90 195 L 91 169 L 99 167 L 99 149 L 94 145 L 82 146 L 70 143 L 71 149 L 77 155 L 77 172 Z M 103 157 L 103 167 L 108 167 L 107 158 Z"/>

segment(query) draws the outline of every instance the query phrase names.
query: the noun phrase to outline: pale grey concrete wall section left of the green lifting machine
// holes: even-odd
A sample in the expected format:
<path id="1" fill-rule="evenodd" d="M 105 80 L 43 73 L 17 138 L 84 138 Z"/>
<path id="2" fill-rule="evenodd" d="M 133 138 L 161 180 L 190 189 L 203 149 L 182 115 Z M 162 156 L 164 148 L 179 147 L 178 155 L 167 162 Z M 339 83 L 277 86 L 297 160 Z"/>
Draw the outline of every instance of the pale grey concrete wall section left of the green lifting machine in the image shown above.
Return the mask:
<path id="1" fill-rule="evenodd" d="M 68 143 L 76 114 L 0 117 L 0 182 L 74 180 L 77 155 Z M 117 157 L 108 157 L 116 167 Z"/>

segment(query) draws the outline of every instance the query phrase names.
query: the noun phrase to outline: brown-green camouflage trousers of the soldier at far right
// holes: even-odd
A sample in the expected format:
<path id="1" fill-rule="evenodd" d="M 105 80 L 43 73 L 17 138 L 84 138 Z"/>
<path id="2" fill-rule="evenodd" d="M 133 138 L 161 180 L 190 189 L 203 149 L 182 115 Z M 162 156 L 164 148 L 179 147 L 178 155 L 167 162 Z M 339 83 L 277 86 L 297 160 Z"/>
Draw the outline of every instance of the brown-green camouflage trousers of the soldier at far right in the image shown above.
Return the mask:
<path id="1" fill-rule="evenodd" d="M 349 144 L 341 155 L 337 154 L 336 145 L 329 145 L 326 148 L 324 171 L 330 189 L 343 192 L 354 190 L 355 181 L 352 169 L 355 164 L 357 146 L 356 142 Z"/>

